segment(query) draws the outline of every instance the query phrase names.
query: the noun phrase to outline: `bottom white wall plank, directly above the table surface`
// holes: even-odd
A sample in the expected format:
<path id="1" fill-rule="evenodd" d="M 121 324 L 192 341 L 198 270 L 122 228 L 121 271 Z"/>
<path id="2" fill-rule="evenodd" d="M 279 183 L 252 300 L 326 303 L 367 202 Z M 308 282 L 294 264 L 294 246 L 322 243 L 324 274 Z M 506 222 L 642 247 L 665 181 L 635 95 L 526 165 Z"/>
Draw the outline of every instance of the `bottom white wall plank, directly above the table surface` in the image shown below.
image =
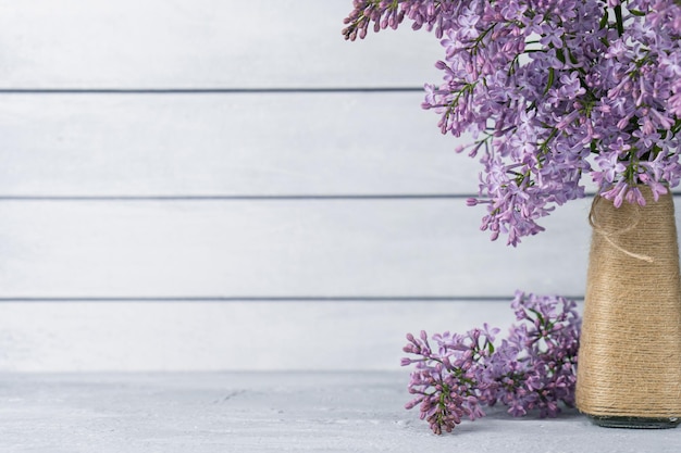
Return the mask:
<path id="1" fill-rule="evenodd" d="M 512 322 L 506 301 L 5 302 L 0 370 L 397 370 L 407 332 Z"/>

